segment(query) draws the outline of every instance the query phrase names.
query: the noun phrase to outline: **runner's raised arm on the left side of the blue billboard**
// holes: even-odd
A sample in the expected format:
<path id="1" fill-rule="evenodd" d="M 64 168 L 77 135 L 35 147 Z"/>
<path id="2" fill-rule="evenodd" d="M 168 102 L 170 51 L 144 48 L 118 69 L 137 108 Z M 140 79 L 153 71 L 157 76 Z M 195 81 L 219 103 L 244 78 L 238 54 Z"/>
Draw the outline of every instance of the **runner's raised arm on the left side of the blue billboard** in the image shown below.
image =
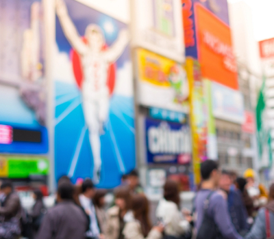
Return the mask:
<path id="1" fill-rule="evenodd" d="M 79 33 L 69 16 L 64 0 L 56 0 L 56 14 L 60 20 L 64 35 L 71 43 L 71 46 L 73 46 L 79 54 L 84 55 L 87 51 L 87 46 L 79 36 Z"/>

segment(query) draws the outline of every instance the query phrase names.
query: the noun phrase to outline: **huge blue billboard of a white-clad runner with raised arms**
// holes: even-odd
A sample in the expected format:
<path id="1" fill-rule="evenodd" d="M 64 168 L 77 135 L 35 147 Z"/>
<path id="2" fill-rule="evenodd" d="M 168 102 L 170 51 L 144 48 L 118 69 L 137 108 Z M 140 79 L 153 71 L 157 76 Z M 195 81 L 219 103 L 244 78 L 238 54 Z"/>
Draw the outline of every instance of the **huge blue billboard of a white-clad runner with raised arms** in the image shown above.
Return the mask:
<path id="1" fill-rule="evenodd" d="M 75 0 L 56 13 L 55 178 L 112 188 L 135 167 L 128 27 Z"/>

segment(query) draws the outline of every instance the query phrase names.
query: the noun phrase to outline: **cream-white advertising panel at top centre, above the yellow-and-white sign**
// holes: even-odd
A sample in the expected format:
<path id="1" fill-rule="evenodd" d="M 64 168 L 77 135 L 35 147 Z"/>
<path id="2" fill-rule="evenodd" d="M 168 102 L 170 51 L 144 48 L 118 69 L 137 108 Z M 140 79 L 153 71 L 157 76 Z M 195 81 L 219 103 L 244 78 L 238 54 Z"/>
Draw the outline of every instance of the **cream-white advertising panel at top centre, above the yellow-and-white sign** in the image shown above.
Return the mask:
<path id="1" fill-rule="evenodd" d="M 181 0 L 134 0 L 134 46 L 184 61 Z"/>

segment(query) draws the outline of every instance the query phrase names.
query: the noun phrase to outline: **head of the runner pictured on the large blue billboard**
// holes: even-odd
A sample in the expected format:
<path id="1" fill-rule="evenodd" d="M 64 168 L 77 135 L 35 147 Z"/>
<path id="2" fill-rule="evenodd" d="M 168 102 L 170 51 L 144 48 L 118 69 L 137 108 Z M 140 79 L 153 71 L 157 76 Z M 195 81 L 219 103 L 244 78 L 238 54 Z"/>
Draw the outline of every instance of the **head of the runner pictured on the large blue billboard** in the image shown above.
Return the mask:
<path id="1" fill-rule="evenodd" d="M 85 33 L 86 40 L 88 40 L 88 46 L 92 51 L 100 52 L 105 44 L 105 37 L 101 28 L 95 24 L 90 24 L 86 28 Z"/>

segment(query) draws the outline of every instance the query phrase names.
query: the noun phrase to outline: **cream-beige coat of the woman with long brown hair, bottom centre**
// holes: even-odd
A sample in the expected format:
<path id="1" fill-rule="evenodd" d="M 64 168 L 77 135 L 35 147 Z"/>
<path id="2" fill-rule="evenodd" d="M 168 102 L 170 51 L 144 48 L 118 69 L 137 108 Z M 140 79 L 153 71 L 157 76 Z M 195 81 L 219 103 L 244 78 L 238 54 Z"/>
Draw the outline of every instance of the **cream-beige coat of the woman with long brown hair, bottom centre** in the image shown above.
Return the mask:
<path id="1" fill-rule="evenodd" d="M 123 234 L 125 239 L 161 239 L 162 234 L 160 231 L 155 229 L 151 229 L 149 235 L 145 238 L 142 235 L 141 225 L 138 221 L 134 220 L 125 224 L 125 228 L 123 229 Z"/>

